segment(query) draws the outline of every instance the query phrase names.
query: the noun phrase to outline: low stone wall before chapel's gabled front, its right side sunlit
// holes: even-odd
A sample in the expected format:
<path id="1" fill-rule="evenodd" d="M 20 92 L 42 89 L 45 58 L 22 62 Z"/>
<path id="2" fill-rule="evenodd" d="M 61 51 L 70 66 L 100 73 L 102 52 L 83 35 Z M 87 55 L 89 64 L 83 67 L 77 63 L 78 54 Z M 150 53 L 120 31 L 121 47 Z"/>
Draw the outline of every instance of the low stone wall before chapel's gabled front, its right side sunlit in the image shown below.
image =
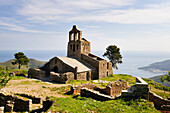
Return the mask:
<path id="1" fill-rule="evenodd" d="M 50 81 L 67 83 L 70 80 L 74 80 L 74 73 L 72 72 L 60 73 L 60 74 L 55 72 L 50 72 Z"/>

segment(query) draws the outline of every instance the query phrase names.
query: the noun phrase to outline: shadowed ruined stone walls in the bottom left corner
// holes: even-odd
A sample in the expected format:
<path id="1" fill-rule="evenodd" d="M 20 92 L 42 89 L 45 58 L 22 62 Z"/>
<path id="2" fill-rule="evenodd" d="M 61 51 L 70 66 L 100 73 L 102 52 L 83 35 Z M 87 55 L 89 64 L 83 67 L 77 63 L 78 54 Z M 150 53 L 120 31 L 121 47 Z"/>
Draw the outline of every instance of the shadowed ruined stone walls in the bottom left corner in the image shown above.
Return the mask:
<path id="1" fill-rule="evenodd" d="M 33 104 L 43 105 L 38 110 L 33 109 Z M 43 112 L 47 111 L 53 104 L 51 100 L 42 100 L 42 98 L 30 96 L 27 94 L 8 94 L 6 92 L 0 92 L 0 113 L 4 112 Z"/>

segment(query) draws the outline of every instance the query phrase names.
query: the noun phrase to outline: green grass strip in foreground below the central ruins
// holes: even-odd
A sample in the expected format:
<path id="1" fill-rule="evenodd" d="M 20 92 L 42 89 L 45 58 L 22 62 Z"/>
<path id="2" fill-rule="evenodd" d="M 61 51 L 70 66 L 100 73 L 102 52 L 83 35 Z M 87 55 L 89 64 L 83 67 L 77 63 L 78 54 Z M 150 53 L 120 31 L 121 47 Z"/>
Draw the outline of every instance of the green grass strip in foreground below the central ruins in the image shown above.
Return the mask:
<path id="1" fill-rule="evenodd" d="M 55 98 L 53 106 L 49 109 L 51 112 L 61 113 L 159 113 L 150 102 L 141 100 L 110 100 L 110 101 L 96 101 L 91 98 L 78 96 L 77 98 Z"/>

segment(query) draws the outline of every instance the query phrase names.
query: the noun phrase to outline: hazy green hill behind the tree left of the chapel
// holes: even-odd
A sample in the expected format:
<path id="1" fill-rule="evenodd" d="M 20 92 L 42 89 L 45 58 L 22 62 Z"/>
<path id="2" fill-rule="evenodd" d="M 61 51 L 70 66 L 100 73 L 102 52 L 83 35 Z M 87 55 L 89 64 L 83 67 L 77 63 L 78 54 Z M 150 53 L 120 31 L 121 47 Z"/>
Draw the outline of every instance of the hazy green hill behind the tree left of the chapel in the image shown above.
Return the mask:
<path id="1" fill-rule="evenodd" d="M 43 66 L 46 63 L 46 62 L 35 60 L 35 59 L 32 59 L 32 58 L 30 58 L 29 60 L 30 60 L 30 62 L 28 64 L 28 67 L 27 66 L 22 66 L 21 69 L 27 70 L 27 69 L 33 68 L 33 67 L 38 68 L 38 67 Z M 11 62 L 13 62 L 13 61 L 14 61 L 14 59 L 8 60 L 6 62 L 1 62 L 0 66 L 2 68 L 5 68 L 6 66 L 8 66 L 9 69 L 18 69 L 18 65 L 12 65 L 11 64 Z"/>

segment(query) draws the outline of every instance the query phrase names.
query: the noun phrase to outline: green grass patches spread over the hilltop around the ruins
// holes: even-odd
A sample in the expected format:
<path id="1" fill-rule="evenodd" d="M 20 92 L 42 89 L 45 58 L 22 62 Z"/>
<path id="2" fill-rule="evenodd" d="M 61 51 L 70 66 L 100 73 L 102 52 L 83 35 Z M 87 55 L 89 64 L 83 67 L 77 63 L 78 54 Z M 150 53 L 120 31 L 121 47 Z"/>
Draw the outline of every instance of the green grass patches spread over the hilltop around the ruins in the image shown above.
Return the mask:
<path id="1" fill-rule="evenodd" d="M 5 70 L 1 70 L 5 71 Z M 9 70 L 14 71 L 14 70 Z M 23 70 L 24 71 L 24 70 Z M 27 71 L 25 70 L 24 73 L 27 74 Z M 0 76 L 3 77 L 3 76 Z M 20 80 L 25 79 L 24 77 L 17 77 L 12 76 L 11 79 L 13 80 Z M 115 74 L 110 75 L 106 78 L 102 78 L 100 80 L 103 81 L 115 81 L 115 80 L 125 80 L 129 82 L 129 86 L 134 85 L 135 77 L 131 75 L 125 75 L 125 74 Z M 160 83 L 154 82 L 150 79 L 144 79 L 148 84 L 151 91 L 154 93 L 167 98 L 170 97 L 170 88 L 166 87 Z M 91 98 L 85 98 L 75 95 L 66 95 L 66 92 L 70 90 L 70 85 L 80 85 L 84 83 L 93 83 L 101 87 L 105 87 L 108 83 L 94 83 L 93 80 L 91 81 L 81 81 L 81 80 L 73 80 L 70 81 L 68 84 L 69 86 L 62 86 L 62 87 L 48 87 L 46 83 L 41 81 L 22 81 L 20 84 L 41 84 L 43 89 L 49 89 L 52 92 L 57 91 L 58 94 L 63 95 L 63 97 L 57 98 L 50 96 L 48 97 L 50 100 L 54 100 L 54 104 L 51 106 L 49 111 L 51 112 L 61 112 L 61 113 L 158 113 L 158 111 L 153 107 L 153 104 L 151 102 L 148 102 L 143 99 L 137 99 L 137 100 L 131 100 L 131 101 L 124 101 L 122 99 L 117 100 L 110 100 L 110 101 L 96 101 Z M 19 84 L 18 84 L 19 85 Z M 166 92 L 164 93 L 164 90 Z M 56 92 L 55 92 L 56 93 Z"/>

